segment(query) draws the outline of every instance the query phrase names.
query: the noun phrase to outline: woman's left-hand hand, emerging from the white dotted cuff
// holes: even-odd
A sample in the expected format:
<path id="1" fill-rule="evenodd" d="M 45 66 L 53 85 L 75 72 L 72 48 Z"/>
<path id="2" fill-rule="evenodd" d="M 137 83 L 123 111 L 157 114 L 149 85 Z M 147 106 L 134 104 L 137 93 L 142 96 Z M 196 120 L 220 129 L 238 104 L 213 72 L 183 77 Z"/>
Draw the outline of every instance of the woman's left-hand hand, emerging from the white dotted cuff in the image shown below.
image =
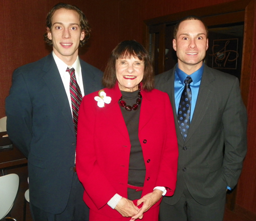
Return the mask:
<path id="1" fill-rule="evenodd" d="M 122 197 L 120 201 L 115 206 L 115 210 L 117 210 L 122 216 L 131 217 L 139 212 L 139 208 L 134 205 L 133 201 Z M 143 214 L 138 216 L 139 219 L 142 219 Z"/>

